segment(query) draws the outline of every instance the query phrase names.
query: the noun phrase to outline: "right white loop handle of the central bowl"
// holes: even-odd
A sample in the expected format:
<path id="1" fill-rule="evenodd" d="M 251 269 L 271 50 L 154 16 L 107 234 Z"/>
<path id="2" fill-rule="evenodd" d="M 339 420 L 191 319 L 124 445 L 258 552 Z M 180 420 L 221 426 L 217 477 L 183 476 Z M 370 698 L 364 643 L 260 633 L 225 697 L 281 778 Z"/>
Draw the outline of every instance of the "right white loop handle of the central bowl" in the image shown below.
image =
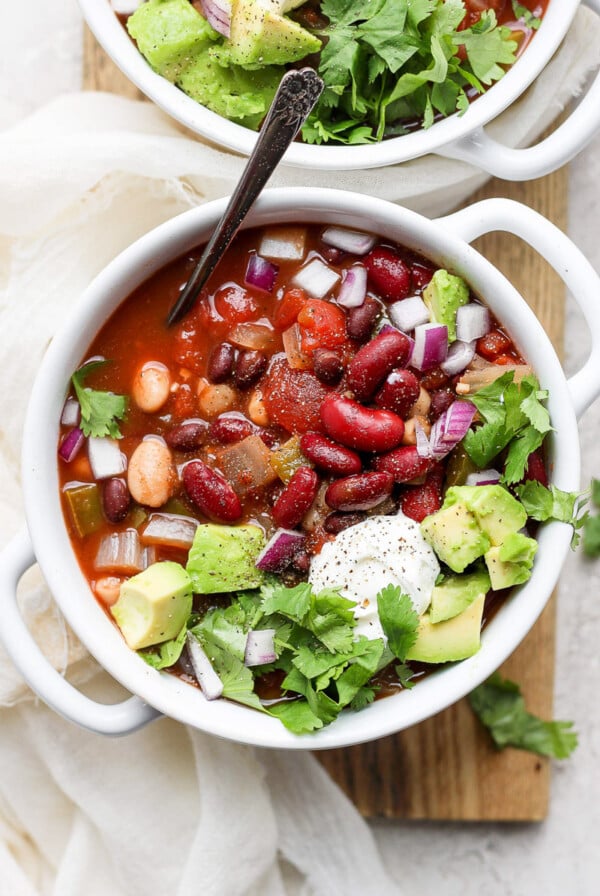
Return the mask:
<path id="1" fill-rule="evenodd" d="M 568 381 L 575 414 L 580 417 L 600 395 L 600 277 L 562 230 L 528 206 L 512 199 L 484 199 L 438 218 L 445 231 L 468 243 L 491 231 L 521 237 L 556 271 L 581 308 L 591 332 L 591 351 Z"/>

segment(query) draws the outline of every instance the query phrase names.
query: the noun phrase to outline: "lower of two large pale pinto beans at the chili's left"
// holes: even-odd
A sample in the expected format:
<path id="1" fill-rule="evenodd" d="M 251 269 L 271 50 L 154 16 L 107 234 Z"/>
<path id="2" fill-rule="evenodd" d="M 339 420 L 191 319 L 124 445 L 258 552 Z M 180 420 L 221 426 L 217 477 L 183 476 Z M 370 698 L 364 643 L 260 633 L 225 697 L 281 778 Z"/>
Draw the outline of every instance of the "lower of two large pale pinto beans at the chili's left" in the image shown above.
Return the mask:
<path id="1" fill-rule="evenodd" d="M 129 459 L 127 486 L 138 504 L 162 507 L 172 496 L 177 471 L 171 451 L 154 436 L 145 438 Z"/>

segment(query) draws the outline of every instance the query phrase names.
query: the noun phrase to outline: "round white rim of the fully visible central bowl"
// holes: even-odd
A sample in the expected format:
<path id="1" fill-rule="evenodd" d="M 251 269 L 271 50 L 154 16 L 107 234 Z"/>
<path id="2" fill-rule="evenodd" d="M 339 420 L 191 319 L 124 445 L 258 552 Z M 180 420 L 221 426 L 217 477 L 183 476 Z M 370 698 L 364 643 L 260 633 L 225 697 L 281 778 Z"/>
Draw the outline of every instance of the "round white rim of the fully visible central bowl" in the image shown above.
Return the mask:
<path id="1" fill-rule="evenodd" d="M 95 600 L 66 533 L 56 460 L 59 419 L 71 372 L 85 357 L 89 334 L 97 332 L 154 271 L 206 240 L 225 204 L 226 200 L 215 200 L 185 212 L 125 249 L 90 284 L 52 340 L 34 383 L 23 435 L 25 511 L 35 554 L 62 613 L 89 652 L 124 687 L 165 715 L 229 740 L 263 747 L 315 750 L 366 742 L 446 708 L 506 659 L 545 606 L 568 551 L 571 530 L 554 522 L 542 527 L 538 542 L 543 563 L 534 565 L 529 582 L 513 591 L 486 627 L 481 650 L 474 657 L 432 673 L 414 690 L 376 701 L 360 713 L 343 713 L 311 735 L 293 735 L 277 719 L 229 701 L 209 703 L 196 688 L 157 672 L 131 651 Z M 552 479 L 565 490 L 578 488 L 579 438 L 560 362 L 534 313 L 489 261 L 448 232 L 443 223 L 362 194 L 317 188 L 267 190 L 245 226 L 276 221 L 359 226 L 385 234 L 465 276 L 509 332 L 519 334 L 517 342 L 525 357 L 550 389 L 548 407 L 556 424 Z"/>

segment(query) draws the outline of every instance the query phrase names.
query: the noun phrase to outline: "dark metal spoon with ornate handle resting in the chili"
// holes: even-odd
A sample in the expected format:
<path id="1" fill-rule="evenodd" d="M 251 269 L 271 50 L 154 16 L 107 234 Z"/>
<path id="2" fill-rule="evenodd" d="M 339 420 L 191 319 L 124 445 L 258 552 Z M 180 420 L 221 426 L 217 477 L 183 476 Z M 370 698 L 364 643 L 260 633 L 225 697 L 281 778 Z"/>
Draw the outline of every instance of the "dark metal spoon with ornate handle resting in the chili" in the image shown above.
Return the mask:
<path id="1" fill-rule="evenodd" d="M 194 305 L 200 290 L 219 264 L 254 200 L 308 118 L 322 90 L 323 81 L 312 68 L 287 72 L 281 79 L 229 205 L 206 244 L 192 276 L 169 311 L 167 325 L 181 320 Z"/>

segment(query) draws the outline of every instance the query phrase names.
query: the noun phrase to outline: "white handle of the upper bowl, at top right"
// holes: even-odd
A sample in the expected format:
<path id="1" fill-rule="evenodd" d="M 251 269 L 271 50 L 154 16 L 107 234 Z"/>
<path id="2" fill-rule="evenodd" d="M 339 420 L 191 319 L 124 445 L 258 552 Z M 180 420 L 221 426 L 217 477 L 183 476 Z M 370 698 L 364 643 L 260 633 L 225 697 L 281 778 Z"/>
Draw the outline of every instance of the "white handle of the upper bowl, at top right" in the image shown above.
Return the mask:
<path id="1" fill-rule="evenodd" d="M 600 16 L 600 0 L 582 0 Z M 477 128 L 438 151 L 450 159 L 469 162 L 504 180 L 530 180 L 556 171 L 589 143 L 600 128 L 600 71 L 569 117 L 536 146 L 513 149 Z"/>

